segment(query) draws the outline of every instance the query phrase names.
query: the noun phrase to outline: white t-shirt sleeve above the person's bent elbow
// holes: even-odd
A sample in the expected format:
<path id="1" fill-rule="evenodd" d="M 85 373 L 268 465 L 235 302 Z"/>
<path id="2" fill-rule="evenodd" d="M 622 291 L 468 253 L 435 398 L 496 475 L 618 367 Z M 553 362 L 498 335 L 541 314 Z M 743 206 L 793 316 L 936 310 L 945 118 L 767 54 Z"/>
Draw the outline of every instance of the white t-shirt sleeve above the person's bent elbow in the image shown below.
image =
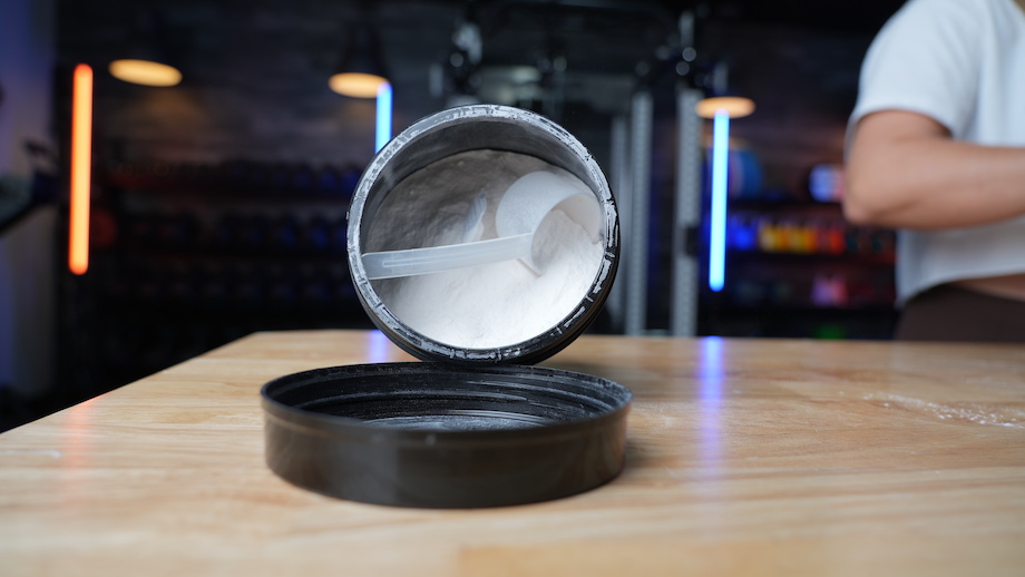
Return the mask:
<path id="1" fill-rule="evenodd" d="M 977 98 L 980 17 L 973 0 L 909 0 L 865 57 L 850 126 L 870 113 L 899 109 L 961 134 Z"/>

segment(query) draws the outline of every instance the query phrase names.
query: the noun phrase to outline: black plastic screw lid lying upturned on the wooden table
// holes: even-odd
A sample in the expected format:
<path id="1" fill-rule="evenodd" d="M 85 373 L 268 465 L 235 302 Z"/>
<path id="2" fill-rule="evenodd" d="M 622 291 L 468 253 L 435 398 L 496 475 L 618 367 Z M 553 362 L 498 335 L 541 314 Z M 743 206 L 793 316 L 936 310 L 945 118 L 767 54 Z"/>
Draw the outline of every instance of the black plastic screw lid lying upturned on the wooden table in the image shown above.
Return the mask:
<path id="1" fill-rule="evenodd" d="M 442 363 L 316 369 L 262 397 L 275 473 L 332 497 L 426 508 L 545 501 L 612 480 L 632 399 L 587 374 Z"/>

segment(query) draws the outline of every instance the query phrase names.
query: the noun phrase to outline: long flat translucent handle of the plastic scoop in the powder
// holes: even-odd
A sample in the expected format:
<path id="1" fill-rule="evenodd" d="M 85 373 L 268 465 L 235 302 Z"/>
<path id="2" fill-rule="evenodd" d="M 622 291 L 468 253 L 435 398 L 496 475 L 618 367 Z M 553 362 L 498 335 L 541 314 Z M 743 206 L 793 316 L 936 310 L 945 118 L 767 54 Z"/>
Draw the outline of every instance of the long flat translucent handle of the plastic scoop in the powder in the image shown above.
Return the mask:
<path id="1" fill-rule="evenodd" d="M 371 281 L 440 273 L 481 264 L 527 258 L 534 233 L 501 236 L 475 243 L 365 253 L 363 270 Z"/>

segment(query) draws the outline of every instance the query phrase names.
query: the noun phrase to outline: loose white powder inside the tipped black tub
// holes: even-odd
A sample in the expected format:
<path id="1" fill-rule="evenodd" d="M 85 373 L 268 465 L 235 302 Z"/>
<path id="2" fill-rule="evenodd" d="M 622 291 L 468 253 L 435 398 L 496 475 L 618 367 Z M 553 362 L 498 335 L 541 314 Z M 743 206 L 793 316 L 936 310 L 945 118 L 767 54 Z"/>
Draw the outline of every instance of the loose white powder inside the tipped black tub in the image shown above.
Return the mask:
<path id="1" fill-rule="evenodd" d="M 481 154 L 486 153 L 465 155 Z M 381 245 L 383 250 L 409 247 L 401 246 L 409 242 L 410 236 L 403 233 L 409 226 L 402 221 L 412 217 L 409 214 L 411 206 L 417 207 L 414 214 L 420 217 L 420 231 L 430 229 L 429 236 L 433 237 L 429 241 L 431 244 L 419 244 L 421 237 L 413 246 L 459 242 L 466 231 L 469 205 L 479 190 L 491 190 L 489 197 L 497 198 L 512 180 L 537 169 L 540 163 L 536 158 L 509 153 L 502 153 L 500 157 L 489 156 L 487 159 L 486 174 L 470 170 L 478 174 L 478 180 L 487 179 L 487 187 L 482 187 L 480 182 L 453 183 L 451 178 L 442 178 L 447 185 L 446 190 L 451 193 L 443 207 L 424 208 L 422 195 L 410 203 L 413 198 L 410 189 L 422 192 L 424 186 L 437 185 L 437 177 L 446 174 L 450 176 L 452 166 L 466 172 L 466 158 L 455 160 L 455 165 L 445 163 L 446 166 L 435 167 L 414 183 L 407 184 L 404 192 L 397 197 L 402 201 L 404 209 L 394 206 L 385 209 L 382 206 L 379 212 L 379 217 L 382 213 L 388 215 L 392 226 L 380 235 L 385 238 L 379 237 L 374 244 Z M 575 179 L 568 173 L 560 174 Z M 452 190 L 453 186 L 459 189 Z M 451 198 L 459 202 L 452 203 Z M 494 237 L 495 234 L 495 204 L 489 203 L 485 216 L 485 237 Z M 431 214 L 438 217 L 422 222 L 426 215 Z M 374 281 L 374 288 L 398 319 L 430 339 L 463 349 L 508 346 L 547 332 L 573 313 L 590 290 L 602 266 L 603 255 L 601 238 L 592 238 L 579 224 L 556 208 L 545 217 L 535 234 L 534 261 L 543 271 L 540 275 L 533 273 L 520 261 L 506 261 L 443 273 Z"/>

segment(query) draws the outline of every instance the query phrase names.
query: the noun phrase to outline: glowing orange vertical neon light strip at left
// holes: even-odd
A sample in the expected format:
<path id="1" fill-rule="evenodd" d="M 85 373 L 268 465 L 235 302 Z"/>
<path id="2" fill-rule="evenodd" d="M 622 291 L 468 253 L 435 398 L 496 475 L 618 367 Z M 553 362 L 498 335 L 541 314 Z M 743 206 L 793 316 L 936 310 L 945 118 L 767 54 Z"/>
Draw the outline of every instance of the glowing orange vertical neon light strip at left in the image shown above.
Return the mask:
<path id="1" fill-rule="evenodd" d="M 71 92 L 71 217 L 68 268 L 89 270 L 89 188 L 92 180 L 92 68 L 75 67 Z"/>

